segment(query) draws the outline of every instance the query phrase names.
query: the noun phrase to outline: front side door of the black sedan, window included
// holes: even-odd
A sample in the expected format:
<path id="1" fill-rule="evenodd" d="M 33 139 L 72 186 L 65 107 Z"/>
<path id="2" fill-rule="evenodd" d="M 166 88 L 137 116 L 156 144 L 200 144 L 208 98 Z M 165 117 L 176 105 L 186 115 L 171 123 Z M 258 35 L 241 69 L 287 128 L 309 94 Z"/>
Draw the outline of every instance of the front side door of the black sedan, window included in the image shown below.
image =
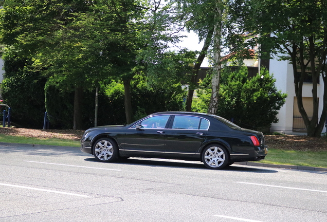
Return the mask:
<path id="1" fill-rule="evenodd" d="M 126 131 L 123 150 L 131 156 L 162 156 L 166 150 L 166 126 L 170 115 L 151 116 Z"/>

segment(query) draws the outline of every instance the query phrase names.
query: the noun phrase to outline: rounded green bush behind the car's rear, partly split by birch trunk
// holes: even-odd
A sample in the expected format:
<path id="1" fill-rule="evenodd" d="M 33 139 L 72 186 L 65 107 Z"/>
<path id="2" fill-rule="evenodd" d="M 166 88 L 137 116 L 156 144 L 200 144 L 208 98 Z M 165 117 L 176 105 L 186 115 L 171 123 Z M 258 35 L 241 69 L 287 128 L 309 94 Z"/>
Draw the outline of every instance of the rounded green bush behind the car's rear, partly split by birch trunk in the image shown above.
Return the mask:
<path id="1" fill-rule="evenodd" d="M 278 122 L 278 110 L 285 103 L 286 94 L 275 87 L 275 79 L 267 70 L 260 75 L 248 78 L 246 67 L 231 72 L 224 69 L 221 76 L 219 110 L 217 115 L 245 128 L 261 130 Z M 203 84 L 198 93 L 199 106 L 195 111 L 202 112 L 208 104 L 210 90 Z"/>

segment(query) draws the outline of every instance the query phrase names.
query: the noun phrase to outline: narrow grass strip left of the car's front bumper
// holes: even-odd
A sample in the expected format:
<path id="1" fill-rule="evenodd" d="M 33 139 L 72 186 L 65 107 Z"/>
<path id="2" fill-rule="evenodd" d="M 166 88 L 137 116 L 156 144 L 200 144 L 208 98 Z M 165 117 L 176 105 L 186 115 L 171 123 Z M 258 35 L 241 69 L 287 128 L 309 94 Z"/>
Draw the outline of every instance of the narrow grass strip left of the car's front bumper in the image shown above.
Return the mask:
<path id="1" fill-rule="evenodd" d="M 6 143 L 25 143 L 25 144 L 39 144 L 39 145 L 57 145 L 57 146 L 80 146 L 80 141 L 72 139 L 59 138 L 33 138 L 24 136 L 9 136 L 0 134 L 0 142 Z"/>

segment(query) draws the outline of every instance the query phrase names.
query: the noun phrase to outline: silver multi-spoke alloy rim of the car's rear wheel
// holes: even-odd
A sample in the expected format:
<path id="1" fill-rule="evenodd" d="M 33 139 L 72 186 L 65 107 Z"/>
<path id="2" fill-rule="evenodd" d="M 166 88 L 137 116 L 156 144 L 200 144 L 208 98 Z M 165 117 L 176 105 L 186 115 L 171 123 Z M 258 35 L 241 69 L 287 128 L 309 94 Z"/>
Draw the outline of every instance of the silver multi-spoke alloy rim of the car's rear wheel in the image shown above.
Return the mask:
<path id="1" fill-rule="evenodd" d="M 219 168 L 226 160 L 225 152 L 218 146 L 211 146 L 204 154 L 204 160 L 211 168 Z"/>

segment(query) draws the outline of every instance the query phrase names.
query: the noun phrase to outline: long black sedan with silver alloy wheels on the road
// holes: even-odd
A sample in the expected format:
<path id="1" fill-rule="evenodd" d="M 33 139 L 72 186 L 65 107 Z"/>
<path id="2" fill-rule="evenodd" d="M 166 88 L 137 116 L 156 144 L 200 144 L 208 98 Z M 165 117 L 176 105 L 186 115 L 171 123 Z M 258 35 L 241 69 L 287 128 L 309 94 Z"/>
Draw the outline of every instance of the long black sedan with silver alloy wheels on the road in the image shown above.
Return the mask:
<path id="1" fill-rule="evenodd" d="M 81 151 L 102 162 L 128 157 L 199 160 L 209 169 L 264 159 L 261 132 L 241 128 L 215 115 L 163 112 L 130 125 L 89 128 Z"/>

